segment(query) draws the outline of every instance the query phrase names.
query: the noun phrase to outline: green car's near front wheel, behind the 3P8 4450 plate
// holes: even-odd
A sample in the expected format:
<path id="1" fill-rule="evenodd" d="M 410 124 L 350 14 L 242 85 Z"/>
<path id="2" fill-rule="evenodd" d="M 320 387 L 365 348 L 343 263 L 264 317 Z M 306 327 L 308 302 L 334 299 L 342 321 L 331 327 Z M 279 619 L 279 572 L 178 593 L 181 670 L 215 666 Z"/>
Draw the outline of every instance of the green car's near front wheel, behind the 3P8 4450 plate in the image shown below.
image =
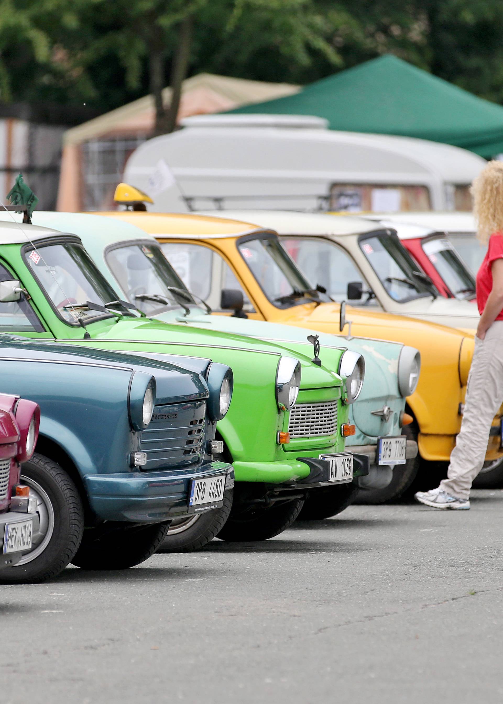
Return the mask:
<path id="1" fill-rule="evenodd" d="M 157 552 L 191 553 L 200 550 L 223 529 L 231 508 L 232 489 L 225 491 L 221 508 L 174 520 Z"/>

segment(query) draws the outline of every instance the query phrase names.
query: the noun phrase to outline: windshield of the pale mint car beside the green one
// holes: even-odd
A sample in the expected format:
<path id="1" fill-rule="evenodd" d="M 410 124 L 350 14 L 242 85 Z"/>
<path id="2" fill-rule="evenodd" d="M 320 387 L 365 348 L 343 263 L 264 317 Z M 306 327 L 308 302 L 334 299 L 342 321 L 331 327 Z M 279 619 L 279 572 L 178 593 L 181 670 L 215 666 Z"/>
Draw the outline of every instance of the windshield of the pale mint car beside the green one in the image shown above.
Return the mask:
<path id="1" fill-rule="evenodd" d="M 128 301 L 148 315 L 180 308 L 180 302 L 168 287 L 187 289 L 155 244 L 130 244 L 110 249 L 106 262 Z M 149 300 L 147 296 L 158 297 L 158 300 Z M 196 305 L 188 291 L 183 301 Z"/>

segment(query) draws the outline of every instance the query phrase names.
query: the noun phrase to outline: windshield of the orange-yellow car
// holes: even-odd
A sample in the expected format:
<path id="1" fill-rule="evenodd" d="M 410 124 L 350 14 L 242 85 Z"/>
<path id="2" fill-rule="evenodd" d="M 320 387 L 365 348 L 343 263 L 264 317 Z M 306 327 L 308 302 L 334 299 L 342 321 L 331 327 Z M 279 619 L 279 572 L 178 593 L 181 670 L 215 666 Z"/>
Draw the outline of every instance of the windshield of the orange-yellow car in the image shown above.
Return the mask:
<path id="1" fill-rule="evenodd" d="M 277 308 L 289 308 L 307 301 L 330 301 L 297 269 L 277 239 L 246 239 L 238 243 L 244 262 L 264 294 Z"/>

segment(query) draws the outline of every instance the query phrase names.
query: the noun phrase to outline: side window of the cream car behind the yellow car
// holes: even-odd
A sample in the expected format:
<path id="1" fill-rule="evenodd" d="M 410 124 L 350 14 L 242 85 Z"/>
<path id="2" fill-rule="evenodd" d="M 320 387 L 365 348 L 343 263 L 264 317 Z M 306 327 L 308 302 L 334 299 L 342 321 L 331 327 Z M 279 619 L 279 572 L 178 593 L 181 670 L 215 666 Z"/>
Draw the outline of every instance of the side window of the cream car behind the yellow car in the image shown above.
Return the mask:
<path id="1" fill-rule="evenodd" d="M 281 241 L 309 281 L 324 286 L 334 301 L 347 300 L 347 284 L 350 282 L 360 282 L 363 289 L 368 289 L 352 258 L 335 242 L 313 237 L 285 237 Z M 367 305 L 375 305 L 375 299 L 368 301 Z"/>

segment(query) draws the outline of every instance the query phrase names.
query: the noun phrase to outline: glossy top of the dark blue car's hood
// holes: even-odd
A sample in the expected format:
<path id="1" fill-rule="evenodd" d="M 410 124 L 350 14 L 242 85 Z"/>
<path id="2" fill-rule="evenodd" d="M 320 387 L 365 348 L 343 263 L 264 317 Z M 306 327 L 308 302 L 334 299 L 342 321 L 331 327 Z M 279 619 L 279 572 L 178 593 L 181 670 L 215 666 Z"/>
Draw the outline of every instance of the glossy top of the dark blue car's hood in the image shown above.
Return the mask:
<path id="1" fill-rule="evenodd" d="M 128 372 L 140 371 L 151 374 L 156 379 L 156 403 L 174 403 L 179 399 L 191 400 L 208 398 L 209 391 L 204 381 L 204 374 L 210 364 L 209 359 L 180 356 L 170 362 L 136 355 L 95 348 L 77 347 L 57 342 L 9 340 L 7 336 L 0 339 L 0 359 L 20 359 L 40 364 L 55 361 L 58 364 L 85 365 L 86 367 L 116 367 Z M 182 363 L 187 362 L 187 367 Z"/>

